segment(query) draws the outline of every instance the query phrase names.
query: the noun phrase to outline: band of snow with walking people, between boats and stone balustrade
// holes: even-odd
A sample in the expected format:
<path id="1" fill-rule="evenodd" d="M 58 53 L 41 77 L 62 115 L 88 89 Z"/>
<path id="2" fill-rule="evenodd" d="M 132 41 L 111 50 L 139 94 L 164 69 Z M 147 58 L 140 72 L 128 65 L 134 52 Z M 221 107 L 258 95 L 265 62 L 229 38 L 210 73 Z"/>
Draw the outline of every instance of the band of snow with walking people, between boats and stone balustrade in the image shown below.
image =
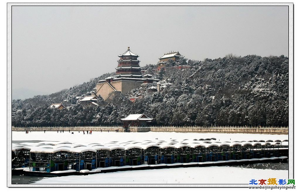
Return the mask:
<path id="1" fill-rule="evenodd" d="M 72 131 L 71 131 L 72 132 Z M 248 141 L 248 140 L 276 140 L 288 139 L 288 135 L 267 135 L 267 134 L 243 134 L 243 133 L 175 133 L 175 132 L 145 132 L 145 133 L 116 133 L 98 132 L 93 131 L 92 134 L 83 134 L 82 131 L 74 131 L 74 134 L 69 131 L 64 133 L 57 133 L 57 131 L 32 131 L 28 134 L 25 131 L 13 131 L 12 140 L 41 140 L 41 141 L 68 141 L 68 142 L 111 142 L 111 141 L 138 141 L 143 140 L 159 140 L 169 141 L 170 139 L 183 140 L 183 139 L 200 139 L 200 138 L 216 138 L 216 141 Z"/>

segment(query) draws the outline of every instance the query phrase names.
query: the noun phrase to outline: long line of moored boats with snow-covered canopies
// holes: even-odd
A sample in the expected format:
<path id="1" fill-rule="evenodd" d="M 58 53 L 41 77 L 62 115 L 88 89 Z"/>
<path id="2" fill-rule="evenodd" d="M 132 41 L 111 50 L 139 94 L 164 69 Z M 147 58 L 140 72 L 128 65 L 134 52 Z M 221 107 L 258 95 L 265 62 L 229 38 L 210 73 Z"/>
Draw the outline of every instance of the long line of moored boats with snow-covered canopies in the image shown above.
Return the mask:
<path id="1" fill-rule="evenodd" d="M 142 114 L 141 114 L 142 115 Z M 214 139 L 206 138 L 205 140 Z M 211 142 L 199 139 L 112 141 L 108 143 L 38 142 L 12 144 L 12 170 L 24 172 L 90 173 L 121 168 L 157 168 L 175 165 L 229 164 L 282 160 L 288 140 Z M 255 142 L 256 141 L 256 142 Z M 269 141 L 269 142 L 268 142 Z M 281 158 L 280 158 L 281 156 Z M 279 159 L 278 159 L 279 157 Z M 202 164 L 203 163 L 203 164 Z M 187 166 L 185 166 L 187 167 Z M 81 172 L 81 173 L 82 173 Z M 80 173 L 80 172 L 79 172 Z"/>

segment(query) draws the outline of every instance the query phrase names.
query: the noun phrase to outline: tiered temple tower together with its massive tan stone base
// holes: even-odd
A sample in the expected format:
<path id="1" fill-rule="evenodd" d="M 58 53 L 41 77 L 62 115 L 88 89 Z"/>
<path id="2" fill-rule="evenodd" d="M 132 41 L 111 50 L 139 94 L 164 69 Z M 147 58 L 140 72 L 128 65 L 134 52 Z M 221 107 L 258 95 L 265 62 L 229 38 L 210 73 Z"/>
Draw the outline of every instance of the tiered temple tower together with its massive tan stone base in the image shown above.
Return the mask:
<path id="1" fill-rule="evenodd" d="M 146 82 L 151 81 L 142 77 L 139 56 L 134 54 L 128 47 L 127 51 L 119 55 L 116 75 L 107 77 L 105 80 L 98 80 L 96 85 L 96 96 L 100 95 L 104 100 L 115 95 L 126 94 Z"/>

